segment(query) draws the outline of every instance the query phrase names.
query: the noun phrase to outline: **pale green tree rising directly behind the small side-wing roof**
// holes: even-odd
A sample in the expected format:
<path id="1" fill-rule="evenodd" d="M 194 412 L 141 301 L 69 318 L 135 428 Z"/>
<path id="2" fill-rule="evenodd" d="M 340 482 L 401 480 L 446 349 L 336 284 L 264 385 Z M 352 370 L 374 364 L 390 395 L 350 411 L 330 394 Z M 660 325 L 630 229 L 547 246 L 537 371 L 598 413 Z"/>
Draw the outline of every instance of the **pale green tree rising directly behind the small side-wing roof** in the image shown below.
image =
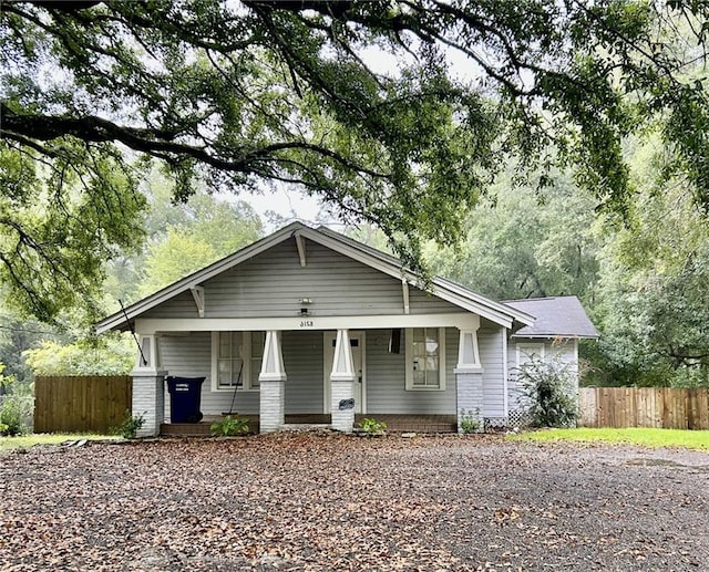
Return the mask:
<path id="1" fill-rule="evenodd" d="M 436 273 L 495 300 L 575 294 L 598 279 L 593 199 L 563 177 L 553 186 L 515 187 L 511 171 L 494 198 L 471 211 L 458 248 L 431 249 Z"/>

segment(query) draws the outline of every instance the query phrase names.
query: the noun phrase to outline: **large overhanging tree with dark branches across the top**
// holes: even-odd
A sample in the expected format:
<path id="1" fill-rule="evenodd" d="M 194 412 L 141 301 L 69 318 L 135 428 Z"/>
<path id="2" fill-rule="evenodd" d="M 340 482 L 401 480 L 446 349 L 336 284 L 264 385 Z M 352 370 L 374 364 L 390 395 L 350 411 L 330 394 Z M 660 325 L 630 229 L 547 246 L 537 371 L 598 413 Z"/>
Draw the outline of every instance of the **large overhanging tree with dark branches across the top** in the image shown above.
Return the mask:
<path id="1" fill-rule="evenodd" d="M 573 165 L 603 206 L 624 210 L 621 143 L 648 122 L 671 145 L 665 173 L 684 174 L 709 205 L 706 80 L 681 73 L 703 56 L 705 2 L 37 0 L 1 10 L 2 279 L 43 318 L 134 237 L 142 205 L 124 149 L 161 162 L 178 199 L 196 175 L 219 189 L 298 185 L 343 221 L 383 229 L 414 269 L 421 240 L 454 239 L 508 155 L 523 167 Z M 372 63 L 374 49 L 395 70 Z M 449 53 L 471 77 L 449 71 Z M 39 197 L 52 199 L 39 227 L 10 208 Z M 66 197 L 88 204 L 90 233 L 66 225 Z"/>

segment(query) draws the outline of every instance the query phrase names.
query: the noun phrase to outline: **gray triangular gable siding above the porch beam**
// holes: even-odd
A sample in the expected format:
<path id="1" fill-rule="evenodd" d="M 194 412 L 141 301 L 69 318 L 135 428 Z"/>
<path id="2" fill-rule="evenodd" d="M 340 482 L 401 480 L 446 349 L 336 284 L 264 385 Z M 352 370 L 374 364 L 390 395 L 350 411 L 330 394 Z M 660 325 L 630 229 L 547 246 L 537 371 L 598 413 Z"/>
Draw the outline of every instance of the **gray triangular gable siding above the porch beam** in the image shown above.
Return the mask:
<path id="1" fill-rule="evenodd" d="M 300 266 L 295 239 L 275 246 L 205 282 L 205 318 L 295 316 L 299 300 L 310 298 L 314 316 L 403 313 L 401 281 L 306 241 Z M 412 313 L 460 309 L 410 287 Z M 145 318 L 196 318 L 189 292 L 146 312 Z"/>

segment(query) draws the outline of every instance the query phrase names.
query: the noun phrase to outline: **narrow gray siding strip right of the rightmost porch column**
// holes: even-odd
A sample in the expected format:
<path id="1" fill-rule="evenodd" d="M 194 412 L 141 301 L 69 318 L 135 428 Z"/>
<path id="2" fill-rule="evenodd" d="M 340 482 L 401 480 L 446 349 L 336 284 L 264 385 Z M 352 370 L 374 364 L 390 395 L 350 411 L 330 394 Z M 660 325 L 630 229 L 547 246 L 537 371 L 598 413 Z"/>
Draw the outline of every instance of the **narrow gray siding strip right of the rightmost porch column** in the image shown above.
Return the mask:
<path id="1" fill-rule="evenodd" d="M 481 327 L 477 331 L 480 362 L 483 366 L 483 417 L 506 417 L 503 327 Z"/>

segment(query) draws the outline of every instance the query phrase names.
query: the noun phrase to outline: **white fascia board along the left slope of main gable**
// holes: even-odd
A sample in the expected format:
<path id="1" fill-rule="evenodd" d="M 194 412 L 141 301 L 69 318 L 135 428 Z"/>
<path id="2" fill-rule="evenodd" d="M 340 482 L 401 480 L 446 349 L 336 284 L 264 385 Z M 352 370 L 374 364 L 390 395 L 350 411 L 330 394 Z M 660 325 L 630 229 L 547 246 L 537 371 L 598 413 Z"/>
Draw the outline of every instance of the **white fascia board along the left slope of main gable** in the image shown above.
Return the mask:
<path id="1" fill-rule="evenodd" d="M 294 232 L 304 228 L 307 227 L 302 225 L 302 222 L 292 222 L 287 227 L 284 227 L 280 230 L 274 232 L 273 235 L 257 240 L 256 242 L 247 247 L 244 247 L 242 250 L 235 252 L 234 254 L 223 258 L 222 260 L 217 260 L 213 264 L 198 270 L 197 272 L 179 280 L 178 282 L 175 282 L 174 284 L 171 284 L 163 290 L 160 290 L 154 294 L 144 298 L 138 302 L 135 302 L 134 304 L 131 304 L 125 309 L 125 314 L 127 314 L 129 320 L 132 320 L 136 315 L 140 315 L 143 312 L 147 312 L 148 310 L 152 310 L 156 305 L 166 302 L 167 300 L 183 293 L 184 291 L 199 285 L 203 282 L 206 282 L 207 280 L 220 274 L 232 267 L 240 264 L 242 262 L 254 258 L 257 254 L 260 254 L 261 252 L 278 245 L 279 242 L 287 240 Z M 125 314 L 123 313 L 123 311 L 116 312 L 115 314 L 104 318 L 102 321 L 97 322 L 94 326 L 96 334 L 109 332 L 125 324 Z"/>

